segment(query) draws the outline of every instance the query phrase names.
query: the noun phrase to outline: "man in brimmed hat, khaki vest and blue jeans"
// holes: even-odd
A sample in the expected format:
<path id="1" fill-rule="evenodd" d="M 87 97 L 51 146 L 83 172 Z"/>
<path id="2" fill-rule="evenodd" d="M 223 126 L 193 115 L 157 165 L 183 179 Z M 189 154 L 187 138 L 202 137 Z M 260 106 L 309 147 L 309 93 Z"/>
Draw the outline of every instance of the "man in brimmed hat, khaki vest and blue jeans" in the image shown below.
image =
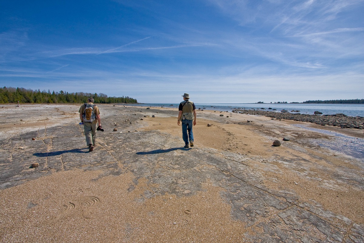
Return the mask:
<path id="1" fill-rule="evenodd" d="M 183 101 L 179 103 L 178 107 L 178 122 L 182 122 L 182 139 L 185 142 L 184 148 L 193 147 L 193 133 L 192 124 L 196 125 L 196 106 L 190 101 L 190 95 L 184 94 Z M 187 133 L 188 132 L 188 133 Z"/>

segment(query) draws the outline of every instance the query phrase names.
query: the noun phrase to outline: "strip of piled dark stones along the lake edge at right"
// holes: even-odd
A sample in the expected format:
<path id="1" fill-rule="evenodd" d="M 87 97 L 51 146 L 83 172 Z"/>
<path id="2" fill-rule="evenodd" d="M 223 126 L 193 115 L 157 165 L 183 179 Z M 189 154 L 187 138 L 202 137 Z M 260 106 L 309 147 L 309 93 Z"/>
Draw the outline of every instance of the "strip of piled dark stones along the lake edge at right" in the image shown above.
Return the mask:
<path id="1" fill-rule="evenodd" d="M 294 120 L 301 122 L 310 122 L 321 126 L 340 126 L 341 128 L 355 128 L 364 129 L 364 117 L 349 117 L 345 114 L 339 113 L 335 115 L 309 115 L 309 114 L 292 114 L 283 110 L 281 113 L 265 110 L 245 110 L 234 109 L 232 112 L 249 115 L 264 115 L 266 117 L 276 118 L 277 120 Z"/>

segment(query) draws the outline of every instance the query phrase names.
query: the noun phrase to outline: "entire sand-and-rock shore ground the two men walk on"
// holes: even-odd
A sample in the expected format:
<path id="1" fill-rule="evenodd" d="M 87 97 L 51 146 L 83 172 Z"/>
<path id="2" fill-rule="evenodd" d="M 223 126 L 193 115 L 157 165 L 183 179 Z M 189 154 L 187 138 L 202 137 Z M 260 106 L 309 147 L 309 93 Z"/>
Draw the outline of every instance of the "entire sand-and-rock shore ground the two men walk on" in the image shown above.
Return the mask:
<path id="1" fill-rule="evenodd" d="M 88 152 L 80 104 L 0 105 L 0 242 L 364 242 L 364 161 L 296 125 L 363 130 L 199 110 L 183 149 L 177 108 L 98 106 Z"/>

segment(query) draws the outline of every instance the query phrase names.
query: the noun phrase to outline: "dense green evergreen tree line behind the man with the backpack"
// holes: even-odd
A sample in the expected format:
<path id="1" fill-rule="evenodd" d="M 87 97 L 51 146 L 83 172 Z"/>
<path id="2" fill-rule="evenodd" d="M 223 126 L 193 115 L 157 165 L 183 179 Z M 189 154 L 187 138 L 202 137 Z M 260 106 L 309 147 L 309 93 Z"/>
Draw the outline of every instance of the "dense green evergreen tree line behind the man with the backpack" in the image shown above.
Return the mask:
<path id="1" fill-rule="evenodd" d="M 138 103 L 136 99 L 126 97 L 107 97 L 106 94 L 91 94 L 91 93 L 68 93 L 63 90 L 59 92 L 50 90 L 40 91 L 3 87 L 0 88 L 0 103 L 20 102 L 20 103 L 86 103 L 87 98 L 92 97 L 95 103 Z"/>

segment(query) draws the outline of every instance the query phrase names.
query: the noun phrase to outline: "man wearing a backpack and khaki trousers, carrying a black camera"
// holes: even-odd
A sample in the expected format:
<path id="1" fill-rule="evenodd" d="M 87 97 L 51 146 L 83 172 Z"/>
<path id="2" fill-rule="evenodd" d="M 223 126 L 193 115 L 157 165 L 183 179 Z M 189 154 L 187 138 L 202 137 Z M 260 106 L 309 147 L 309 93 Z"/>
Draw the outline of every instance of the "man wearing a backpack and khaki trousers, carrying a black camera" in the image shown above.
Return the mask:
<path id="1" fill-rule="evenodd" d="M 99 107 L 94 105 L 94 98 L 88 98 L 87 103 L 84 103 L 80 110 L 80 119 L 83 122 L 83 130 L 86 136 L 88 151 L 94 150 L 96 139 L 96 124 L 99 123 L 97 130 L 103 131 L 101 128 L 101 119 Z"/>

